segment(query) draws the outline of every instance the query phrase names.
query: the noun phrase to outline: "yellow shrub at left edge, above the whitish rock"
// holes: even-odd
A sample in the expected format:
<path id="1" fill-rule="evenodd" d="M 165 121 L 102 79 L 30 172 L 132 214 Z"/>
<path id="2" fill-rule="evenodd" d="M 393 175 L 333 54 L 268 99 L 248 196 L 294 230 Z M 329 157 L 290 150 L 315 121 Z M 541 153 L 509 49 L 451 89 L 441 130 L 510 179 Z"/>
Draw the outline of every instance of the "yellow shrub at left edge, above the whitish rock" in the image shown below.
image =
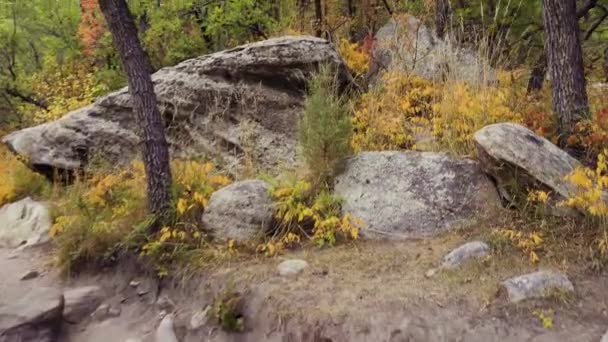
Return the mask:
<path id="1" fill-rule="evenodd" d="M 23 197 L 45 197 L 50 184 L 30 170 L 19 158 L 0 146 L 0 207 Z"/>

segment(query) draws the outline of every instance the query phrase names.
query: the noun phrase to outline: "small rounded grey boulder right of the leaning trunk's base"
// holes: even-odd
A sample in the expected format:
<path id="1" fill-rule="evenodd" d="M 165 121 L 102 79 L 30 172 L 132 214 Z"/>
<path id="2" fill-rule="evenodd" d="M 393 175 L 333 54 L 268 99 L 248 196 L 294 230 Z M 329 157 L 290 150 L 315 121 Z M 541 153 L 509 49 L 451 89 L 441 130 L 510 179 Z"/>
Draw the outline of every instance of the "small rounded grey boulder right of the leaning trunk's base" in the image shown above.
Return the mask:
<path id="1" fill-rule="evenodd" d="M 203 225 L 222 240 L 246 241 L 267 231 L 273 221 L 268 183 L 261 180 L 235 182 L 211 195 Z"/>

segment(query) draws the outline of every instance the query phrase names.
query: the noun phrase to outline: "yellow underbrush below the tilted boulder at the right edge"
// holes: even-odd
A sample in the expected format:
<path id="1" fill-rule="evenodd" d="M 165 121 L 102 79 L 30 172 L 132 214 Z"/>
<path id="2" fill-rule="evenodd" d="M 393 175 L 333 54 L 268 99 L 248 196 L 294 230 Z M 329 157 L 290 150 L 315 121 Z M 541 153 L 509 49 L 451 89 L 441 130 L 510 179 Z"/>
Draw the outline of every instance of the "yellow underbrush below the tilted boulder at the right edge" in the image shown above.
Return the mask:
<path id="1" fill-rule="evenodd" d="M 580 264 L 594 271 L 608 266 L 608 151 L 595 167 L 579 167 L 564 182 L 576 191 L 566 199 L 528 189 L 510 225 L 494 229 L 487 240 L 497 253 L 521 252 L 536 264 L 548 258 L 567 268 Z M 567 211 L 571 210 L 571 211 Z M 566 216 L 555 216 L 560 211 Z"/>

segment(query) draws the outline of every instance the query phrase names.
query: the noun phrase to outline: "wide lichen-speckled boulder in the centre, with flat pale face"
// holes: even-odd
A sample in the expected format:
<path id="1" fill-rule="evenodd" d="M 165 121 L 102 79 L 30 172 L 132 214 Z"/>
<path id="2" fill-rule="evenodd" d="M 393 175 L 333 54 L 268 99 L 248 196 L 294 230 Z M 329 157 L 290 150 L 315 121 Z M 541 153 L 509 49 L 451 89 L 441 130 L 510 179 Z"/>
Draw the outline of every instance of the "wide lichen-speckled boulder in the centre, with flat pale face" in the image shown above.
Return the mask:
<path id="1" fill-rule="evenodd" d="M 422 237 L 474 224 L 501 204 L 475 161 L 431 152 L 364 152 L 337 177 L 343 211 L 361 218 L 363 236 Z"/>

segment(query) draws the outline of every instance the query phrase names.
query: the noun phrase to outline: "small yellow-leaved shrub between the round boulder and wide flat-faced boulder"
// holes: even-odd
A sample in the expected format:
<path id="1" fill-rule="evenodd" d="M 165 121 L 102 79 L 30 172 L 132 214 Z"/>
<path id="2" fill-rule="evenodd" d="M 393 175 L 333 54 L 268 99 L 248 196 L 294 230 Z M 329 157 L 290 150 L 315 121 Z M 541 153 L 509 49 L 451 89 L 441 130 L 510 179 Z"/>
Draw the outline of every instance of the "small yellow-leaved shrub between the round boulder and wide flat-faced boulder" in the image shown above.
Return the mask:
<path id="1" fill-rule="evenodd" d="M 315 193 L 311 183 L 304 180 L 272 183 L 277 226 L 274 235 L 259 246 L 260 252 L 272 256 L 302 240 L 322 247 L 359 238 L 363 221 L 348 213 L 341 215 L 341 201 L 329 191 Z"/>

